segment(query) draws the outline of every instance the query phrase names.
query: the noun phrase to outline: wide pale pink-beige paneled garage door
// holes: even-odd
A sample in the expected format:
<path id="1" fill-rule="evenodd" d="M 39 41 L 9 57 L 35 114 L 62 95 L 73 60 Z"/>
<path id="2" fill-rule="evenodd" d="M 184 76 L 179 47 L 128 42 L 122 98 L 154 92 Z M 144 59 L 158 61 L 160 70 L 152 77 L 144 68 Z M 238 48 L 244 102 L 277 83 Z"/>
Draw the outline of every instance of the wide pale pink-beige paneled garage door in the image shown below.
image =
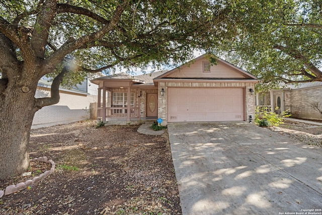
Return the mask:
<path id="1" fill-rule="evenodd" d="M 168 88 L 168 122 L 244 121 L 244 88 Z"/>

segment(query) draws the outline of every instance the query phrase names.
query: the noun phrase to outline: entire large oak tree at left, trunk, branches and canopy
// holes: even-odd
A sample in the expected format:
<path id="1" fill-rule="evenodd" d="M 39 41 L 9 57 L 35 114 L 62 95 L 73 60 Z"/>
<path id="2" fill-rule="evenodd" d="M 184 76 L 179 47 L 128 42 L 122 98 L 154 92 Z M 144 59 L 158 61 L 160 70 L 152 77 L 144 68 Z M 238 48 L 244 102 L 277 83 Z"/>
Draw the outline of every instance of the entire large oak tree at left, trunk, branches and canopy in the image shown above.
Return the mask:
<path id="1" fill-rule="evenodd" d="M 0 179 L 29 166 L 36 111 L 63 80 L 121 66 L 179 63 L 234 33 L 229 1 L 11 0 L 0 3 Z M 51 96 L 35 98 L 39 79 Z M 78 81 L 77 81 L 78 82 Z"/>

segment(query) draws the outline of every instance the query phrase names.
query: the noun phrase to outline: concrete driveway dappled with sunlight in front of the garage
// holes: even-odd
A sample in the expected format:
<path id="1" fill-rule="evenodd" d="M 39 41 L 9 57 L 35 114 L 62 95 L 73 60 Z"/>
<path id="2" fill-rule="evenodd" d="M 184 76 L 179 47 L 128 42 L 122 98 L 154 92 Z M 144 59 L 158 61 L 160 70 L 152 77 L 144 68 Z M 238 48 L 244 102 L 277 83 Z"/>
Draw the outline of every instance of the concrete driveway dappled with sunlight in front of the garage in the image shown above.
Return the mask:
<path id="1" fill-rule="evenodd" d="M 168 130 L 183 215 L 322 214 L 321 149 L 246 122 Z"/>

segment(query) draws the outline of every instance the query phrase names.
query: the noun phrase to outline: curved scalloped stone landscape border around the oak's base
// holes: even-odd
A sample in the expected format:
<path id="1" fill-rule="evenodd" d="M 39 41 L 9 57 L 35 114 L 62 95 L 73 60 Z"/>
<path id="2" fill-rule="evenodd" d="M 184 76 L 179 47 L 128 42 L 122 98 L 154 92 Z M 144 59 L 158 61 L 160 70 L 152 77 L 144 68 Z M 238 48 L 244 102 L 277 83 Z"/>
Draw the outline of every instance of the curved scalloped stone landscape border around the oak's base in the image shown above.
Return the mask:
<path id="1" fill-rule="evenodd" d="M 53 162 L 52 160 L 47 160 L 46 156 L 40 157 L 40 158 L 34 158 L 34 159 L 32 159 L 32 161 L 42 161 L 45 163 L 51 163 L 51 168 L 50 168 L 50 170 L 45 171 L 44 173 L 40 174 L 39 176 L 34 177 L 33 179 L 29 179 L 25 182 L 21 182 L 18 184 L 9 185 L 5 191 L 0 190 L 0 198 L 3 197 L 4 195 L 9 195 L 9 194 L 17 192 L 19 190 L 25 189 L 25 188 L 43 180 L 44 178 L 49 176 L 51 173 L 53 173 L 55 170 L 55 165 L 56 165 L 55 162 Z"/>

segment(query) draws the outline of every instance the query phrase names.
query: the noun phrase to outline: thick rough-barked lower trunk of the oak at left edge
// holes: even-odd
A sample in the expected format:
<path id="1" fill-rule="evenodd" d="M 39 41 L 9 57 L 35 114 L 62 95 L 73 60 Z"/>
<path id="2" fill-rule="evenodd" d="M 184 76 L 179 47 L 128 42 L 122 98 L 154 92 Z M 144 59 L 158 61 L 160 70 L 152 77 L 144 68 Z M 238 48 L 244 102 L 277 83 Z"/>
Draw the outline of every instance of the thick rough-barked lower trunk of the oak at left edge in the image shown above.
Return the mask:
<path id="1" fill-rule="evenodd" d="M 38 110 L 34 107 L 37 81 L 29 80 L 28 86 L 8 82 L 6 90 L 0 95 L 0 180 L 28 170 L 29 136 L 34 114 Z"/>

